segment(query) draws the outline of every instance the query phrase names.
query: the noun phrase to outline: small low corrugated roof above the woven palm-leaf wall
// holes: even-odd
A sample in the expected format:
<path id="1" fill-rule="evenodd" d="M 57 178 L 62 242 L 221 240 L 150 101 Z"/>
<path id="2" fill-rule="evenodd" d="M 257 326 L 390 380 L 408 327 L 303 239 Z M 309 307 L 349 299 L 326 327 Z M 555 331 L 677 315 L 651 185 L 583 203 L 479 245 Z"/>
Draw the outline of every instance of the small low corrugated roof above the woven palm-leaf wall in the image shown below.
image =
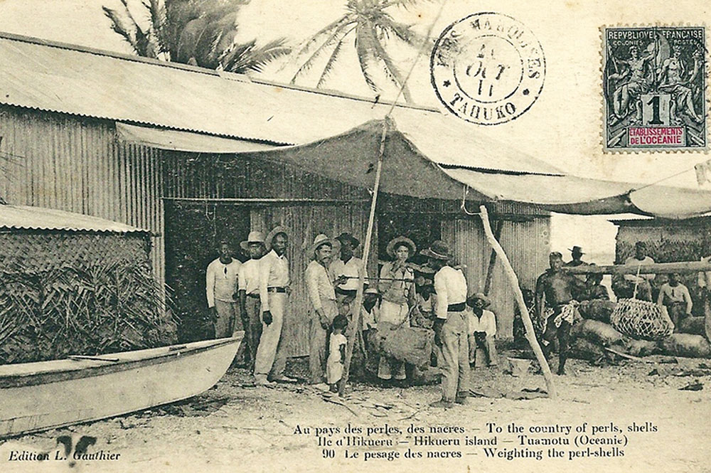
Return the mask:
<path id="1" fill-rule="evenodd" d="M 0 205 L 0 229 L 149 233 L 149 230 L 54 208 Z"/>

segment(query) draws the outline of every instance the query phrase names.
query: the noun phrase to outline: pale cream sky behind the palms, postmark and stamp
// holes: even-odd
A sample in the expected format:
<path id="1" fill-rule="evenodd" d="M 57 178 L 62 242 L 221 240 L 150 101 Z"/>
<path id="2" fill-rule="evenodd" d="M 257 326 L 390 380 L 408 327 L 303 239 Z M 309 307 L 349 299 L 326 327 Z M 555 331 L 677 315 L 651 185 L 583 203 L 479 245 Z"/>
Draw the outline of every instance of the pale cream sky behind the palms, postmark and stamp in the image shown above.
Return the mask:
<path id="1" fill-rule="evenodd" d="M 137 0 L 129 0 L 129 3 Z M 432 28 L 435 36 L 450 23 L 476 11 L 499 11 L 518 19 L 538 37 L 546 60 L 545 85 L 533 107 L 518 119 L 473 132 L 506 142 L 538 159 L 572 174 L 598 179 L 649 184 L 685 169 L 710 156 L 700 153 L 605 154 L 601 146 L 602 97 L 600 26 L 619 24 L 697 23 L 711 24 L 707 1 L 678 0 L 446 0 L 442 14 L 439 1 L 422 0 L 410 9 L 392 9 L 396 21 L 413 24 L 419 33 Z M 257 38 L 265 43 L 286 38 L 292 46 L 343 14 L 344 0 L 253 0 L 243 6 L 237 23 L 239 39 Z M 65 43 L 130 53 L 110 29 L 102 5 L 119 6 L 119 0 L 0 0 L 0 31 L 36 36 Z M 133 4 L 134 5 L 134 4 Z M 135 5 L 134 5 L 135 6 Z M 437 18 L 436 21 L 435 18 Z M 393 46 L 392 55 L 402 70 L 409 70 L 417 51 Z M 326 87 L 373 97 L 358 73 L 353 48 L 346 49 L 341 64 Z M 325 62 L 324 58 L 324 62 Z M 323 63 L 321 63 L 323 64 Z M 294 60 L 274 64 L 264 77 L 288 83 L 298 68 Z M 319 64 L 314 71 L 319 70 Z M 317 72 L 300 78 L 299 85 L 314 86 Z M 420 105 L 444 110 L 429 82 L 429 58 L 419 58 L 408 80 L 412 96 Z M 392 97 L 395 89 L 386 89 Z M 693 170 L 665 184 L 695 187 Z M 554 250 L 581 245 L 589 253 L 614 253 L 614 225 L 604 217 L 555 216 L 551 242 Z"/>

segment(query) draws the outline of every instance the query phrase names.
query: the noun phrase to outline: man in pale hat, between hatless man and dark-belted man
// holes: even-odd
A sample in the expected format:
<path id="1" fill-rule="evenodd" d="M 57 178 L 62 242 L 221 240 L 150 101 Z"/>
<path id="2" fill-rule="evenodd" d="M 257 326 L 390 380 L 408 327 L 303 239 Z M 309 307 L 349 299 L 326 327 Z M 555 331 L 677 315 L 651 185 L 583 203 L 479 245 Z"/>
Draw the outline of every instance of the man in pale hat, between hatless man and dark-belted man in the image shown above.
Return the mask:
<path id="1" fill-rule="evenodd" d="M 242 314 L 242 326 L 245 327 L 245 339 L 242 343 L 247 344 L 247 354 L 245 362 L 247 368 L 254 369 L 257 346 L 260 344 L 262 336 L 262 321 L 260 319 L 260 283 L 262 273 L 260 271 L 260 258 L 264 255 L 264 234 L 262 232 L 250 232 L 247 240 L 240 243 L 242 250 L 250 255 L 250 260 L 242 263 L 240 267 L 239 295 L 240 309 Z M 248 358 L 248 359 L 247 359 Z"/>

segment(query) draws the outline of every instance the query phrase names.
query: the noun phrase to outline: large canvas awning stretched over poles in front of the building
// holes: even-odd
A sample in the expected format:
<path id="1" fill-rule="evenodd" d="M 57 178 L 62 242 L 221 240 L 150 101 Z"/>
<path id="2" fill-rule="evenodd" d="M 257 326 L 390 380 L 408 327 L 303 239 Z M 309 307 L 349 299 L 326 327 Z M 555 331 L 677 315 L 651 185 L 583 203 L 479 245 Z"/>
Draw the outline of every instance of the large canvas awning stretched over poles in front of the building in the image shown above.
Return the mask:
<path id="1" fill-rule="evenodd" d="M 471 127 L 441 116 L 423 120 L 396 110 L 387 119 L 380 191 L 417 198 L 510 201 L 579 215 L 637 213 L 688 218 L 711 211 L 711 192 L 644 186 L 565 174 Z M 372 188 L 385 119 L 335 136 L 291 146 L 117 124 L 133 142 L 163 149 L 249 153 L 286 162 L 335 181 Z M 120 125 L 120 127 L 119 127 Z M 466 132 L 464 132 L 464 131 Z"/>

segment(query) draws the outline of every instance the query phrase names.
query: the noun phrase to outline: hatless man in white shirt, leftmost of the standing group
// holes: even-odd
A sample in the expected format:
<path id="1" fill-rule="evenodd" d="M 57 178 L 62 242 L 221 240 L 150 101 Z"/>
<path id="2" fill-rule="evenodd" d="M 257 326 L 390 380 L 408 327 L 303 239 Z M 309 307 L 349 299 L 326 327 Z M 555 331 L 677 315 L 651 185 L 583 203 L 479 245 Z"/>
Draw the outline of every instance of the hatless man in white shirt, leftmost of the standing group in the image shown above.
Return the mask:
<path id="1" fill-rule="evenodd" d="M 232 248 L 228 242 L 221 241 L 219 251 L 220 257 L 208 265 L 205 277 L 205 292 L 217 339 L 232 336 L 235 331 L 239 305 L 234 296 L 242 266 L 241 262 L 232 257 Z"/>

